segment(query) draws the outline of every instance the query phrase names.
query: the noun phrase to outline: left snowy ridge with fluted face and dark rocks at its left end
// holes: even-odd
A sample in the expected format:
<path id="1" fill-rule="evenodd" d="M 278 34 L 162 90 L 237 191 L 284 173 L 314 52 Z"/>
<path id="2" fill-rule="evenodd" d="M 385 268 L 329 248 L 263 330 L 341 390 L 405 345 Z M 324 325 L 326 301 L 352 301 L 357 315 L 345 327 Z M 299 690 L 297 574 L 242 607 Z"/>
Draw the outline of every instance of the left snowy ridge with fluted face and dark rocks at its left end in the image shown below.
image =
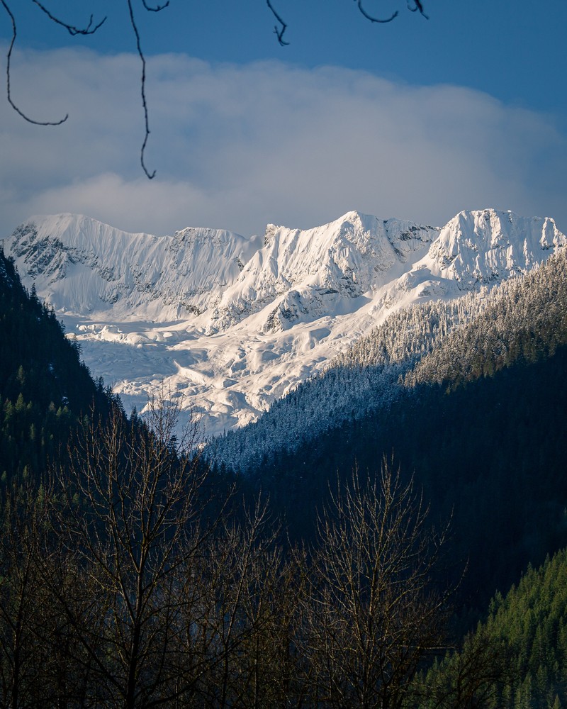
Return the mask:
<path id="1" fill-rule="evenodd" d="M 32 217 L 6 243 L 56 311 L 160 322 L 206 311 L 258 245 L 214 229 L 128 234 L 75 214 Z"/>

